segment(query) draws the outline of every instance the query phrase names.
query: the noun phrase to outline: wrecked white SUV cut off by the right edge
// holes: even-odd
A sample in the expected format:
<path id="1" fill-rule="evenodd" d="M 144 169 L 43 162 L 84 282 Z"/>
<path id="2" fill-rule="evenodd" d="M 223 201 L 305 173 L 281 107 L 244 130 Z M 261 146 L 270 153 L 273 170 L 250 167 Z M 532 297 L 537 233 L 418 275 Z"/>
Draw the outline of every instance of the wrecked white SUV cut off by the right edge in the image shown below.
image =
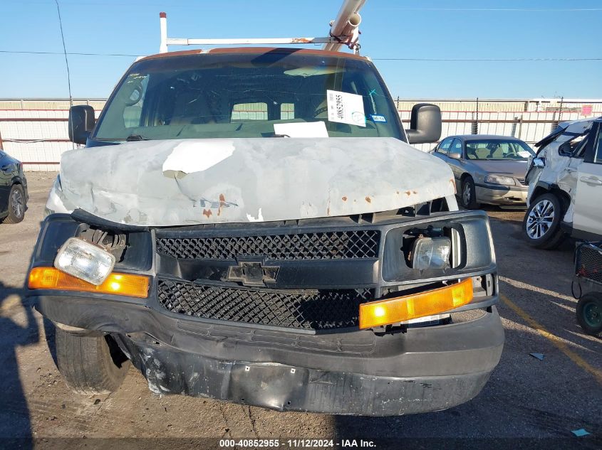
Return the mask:
<path id="1" fill-rule="evenodd" d="M 602 239 L 602 117 L 564 122 L 536 144 L 529 164 L 527 242 L 554 249 L 567 236 Z"/>

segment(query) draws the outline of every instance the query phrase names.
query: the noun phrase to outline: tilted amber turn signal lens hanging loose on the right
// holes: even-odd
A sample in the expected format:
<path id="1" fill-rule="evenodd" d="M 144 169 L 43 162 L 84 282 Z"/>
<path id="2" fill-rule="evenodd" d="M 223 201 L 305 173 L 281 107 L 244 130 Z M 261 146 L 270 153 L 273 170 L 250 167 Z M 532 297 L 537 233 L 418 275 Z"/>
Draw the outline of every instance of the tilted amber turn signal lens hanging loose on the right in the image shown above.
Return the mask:
<path id="1" fill-rule="evenodd" d="M 360 305 L 360 328 L 373 328 L 432 316 L 470 303 L 474 296 L 472 279 L 432 291 Z"/>

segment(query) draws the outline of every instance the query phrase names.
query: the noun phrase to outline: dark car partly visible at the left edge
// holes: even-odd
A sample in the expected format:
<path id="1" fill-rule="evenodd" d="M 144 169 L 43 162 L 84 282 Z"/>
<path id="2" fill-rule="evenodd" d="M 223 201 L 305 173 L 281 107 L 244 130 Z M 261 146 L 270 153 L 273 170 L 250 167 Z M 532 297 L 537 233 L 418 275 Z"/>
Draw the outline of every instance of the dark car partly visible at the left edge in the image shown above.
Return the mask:
<path id="1" fill-rule="evenodd" d="M 27 210 L 23 164 L 0 150 L 0 223 L 19 223 Z"/>

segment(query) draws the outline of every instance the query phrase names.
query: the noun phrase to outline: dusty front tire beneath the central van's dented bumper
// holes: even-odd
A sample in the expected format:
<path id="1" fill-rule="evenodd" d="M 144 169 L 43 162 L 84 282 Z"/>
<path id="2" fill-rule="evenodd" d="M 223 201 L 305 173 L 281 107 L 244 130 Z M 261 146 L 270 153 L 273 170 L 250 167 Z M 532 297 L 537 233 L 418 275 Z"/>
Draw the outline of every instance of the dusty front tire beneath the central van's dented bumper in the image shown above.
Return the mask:
<path id="1" fill-rule="evenodd" d="M 118 390 L 130 361 L 110 336 L 78 336 L 56 329 L 58 371 L 78 394 L 108 394 Z"/>

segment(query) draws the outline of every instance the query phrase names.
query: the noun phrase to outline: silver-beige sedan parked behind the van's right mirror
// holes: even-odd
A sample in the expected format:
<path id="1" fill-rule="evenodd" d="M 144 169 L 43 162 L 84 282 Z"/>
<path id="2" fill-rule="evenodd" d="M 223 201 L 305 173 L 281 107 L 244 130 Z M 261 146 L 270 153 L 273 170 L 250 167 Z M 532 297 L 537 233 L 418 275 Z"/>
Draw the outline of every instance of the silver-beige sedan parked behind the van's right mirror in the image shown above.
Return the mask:
<path id="1" fill-rule="evenodd" d="M 431 153 L 452 168 L 464 208 L 477 209 L 481 203 L 526 205 L 526 166 L 535 153 L 520 139 L 485 134 L 450 136 Z"/>

